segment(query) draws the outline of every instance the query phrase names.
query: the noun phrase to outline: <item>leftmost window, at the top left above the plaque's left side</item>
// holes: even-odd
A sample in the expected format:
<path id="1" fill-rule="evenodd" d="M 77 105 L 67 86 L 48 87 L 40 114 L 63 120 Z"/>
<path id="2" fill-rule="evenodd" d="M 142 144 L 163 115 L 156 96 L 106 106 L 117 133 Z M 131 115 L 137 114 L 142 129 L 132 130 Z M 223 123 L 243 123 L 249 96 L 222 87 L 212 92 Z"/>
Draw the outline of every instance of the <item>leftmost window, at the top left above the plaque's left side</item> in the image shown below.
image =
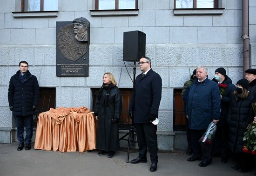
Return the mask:
<path id="1" fill-rule="evenodd" d="M 21 0 L 22 12 L 57 11 L 58 0 Z"/>

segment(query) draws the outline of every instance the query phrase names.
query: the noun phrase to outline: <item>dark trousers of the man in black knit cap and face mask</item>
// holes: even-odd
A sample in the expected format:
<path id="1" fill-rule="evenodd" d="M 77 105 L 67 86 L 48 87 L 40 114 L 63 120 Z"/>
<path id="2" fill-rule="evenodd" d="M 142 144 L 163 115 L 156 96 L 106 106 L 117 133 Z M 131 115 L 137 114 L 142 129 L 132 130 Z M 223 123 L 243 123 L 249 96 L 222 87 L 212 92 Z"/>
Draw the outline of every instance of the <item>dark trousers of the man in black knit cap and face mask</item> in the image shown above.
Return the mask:
<path id="1" fill-rule="evenodd" d="M 213 140 L 213 152 L 220 153 L 221 157 L 227 159 L 229 156 L 228 152 L 228 141 L 229 141 L 229 128 L 228 126 L 217 126 L 215 137 Z"/>

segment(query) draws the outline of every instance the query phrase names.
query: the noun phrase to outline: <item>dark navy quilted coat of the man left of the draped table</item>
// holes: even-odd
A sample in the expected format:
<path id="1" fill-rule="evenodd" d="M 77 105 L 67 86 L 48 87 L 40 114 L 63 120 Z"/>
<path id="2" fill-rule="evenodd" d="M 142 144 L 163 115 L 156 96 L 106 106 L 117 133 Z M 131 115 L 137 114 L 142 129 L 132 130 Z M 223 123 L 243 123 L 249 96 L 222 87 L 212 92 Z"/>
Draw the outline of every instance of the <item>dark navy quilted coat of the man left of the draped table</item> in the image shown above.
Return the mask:
<path id="1" fill-rule="evenodd" d="M 11 77 L 8 89 L 9 106 L 13 106 L 14 115 L 27 116 L 35 113 L 32 106 L 39 101 L 39 85 L 36 77 L 27 70 L 24 84 L 20 77 L 20 70 Z"/>

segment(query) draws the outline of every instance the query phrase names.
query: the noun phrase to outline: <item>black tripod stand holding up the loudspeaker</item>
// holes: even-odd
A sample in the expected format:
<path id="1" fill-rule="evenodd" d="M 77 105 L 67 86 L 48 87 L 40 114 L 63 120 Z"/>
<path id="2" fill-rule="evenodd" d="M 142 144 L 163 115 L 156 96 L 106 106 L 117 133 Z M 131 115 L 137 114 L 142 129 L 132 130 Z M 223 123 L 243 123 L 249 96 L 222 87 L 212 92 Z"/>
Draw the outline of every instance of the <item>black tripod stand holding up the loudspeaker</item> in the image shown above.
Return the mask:
<path id="1" fill-rule="evenodd" d="M 136 61 L 134 61 L 134 66 L 133 66 L 133 91 L 135 91 L 135 75 L 136 75 Z M 132 126 L 129 127 L 129 132 L 126 133 L 124 136 L 122 136 L 119 140 L 127 140 L 128 145 L 127 145 L 127 156 L 126 156 L 126 163 L 129 163 L 129 156 L 130 156 L 130 148 L 135 148 L 135 125 L 134 125 L 134 118 L 132 119 Z M 128 136 L 128 139 L 124 139 L 125 137 Z"/>

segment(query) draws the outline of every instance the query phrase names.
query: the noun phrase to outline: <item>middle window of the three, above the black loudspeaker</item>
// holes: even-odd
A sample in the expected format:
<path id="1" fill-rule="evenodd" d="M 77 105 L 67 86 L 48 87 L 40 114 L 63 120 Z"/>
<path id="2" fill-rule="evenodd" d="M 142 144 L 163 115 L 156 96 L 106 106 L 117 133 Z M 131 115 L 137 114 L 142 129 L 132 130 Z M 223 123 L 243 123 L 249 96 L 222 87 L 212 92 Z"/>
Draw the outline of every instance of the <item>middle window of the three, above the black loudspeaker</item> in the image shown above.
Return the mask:
<path id="1" fill-rule="evenodd" d="M 138 0 L 95 0 L 96 10 L 138 9 Z"/>

